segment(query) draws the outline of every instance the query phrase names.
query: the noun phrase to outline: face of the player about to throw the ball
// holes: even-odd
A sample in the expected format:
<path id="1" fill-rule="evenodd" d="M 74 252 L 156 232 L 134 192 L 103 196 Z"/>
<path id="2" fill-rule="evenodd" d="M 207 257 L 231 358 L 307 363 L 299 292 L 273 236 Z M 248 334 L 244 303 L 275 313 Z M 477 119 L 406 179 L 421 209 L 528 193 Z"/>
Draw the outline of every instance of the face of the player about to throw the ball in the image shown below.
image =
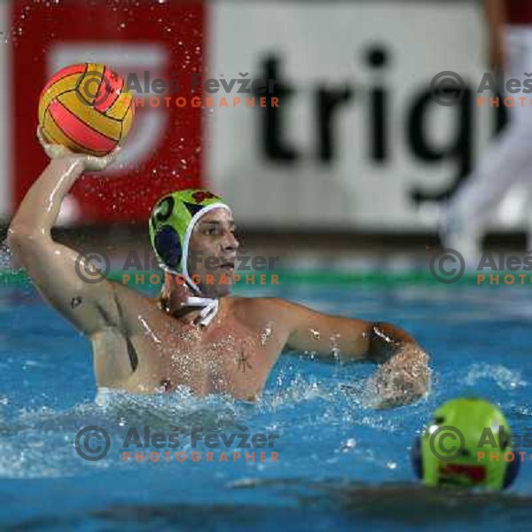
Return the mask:
<path id="1" fill-rule="evenodd" d="M 200 276 L 197 284 L 207 296 L 222 297 L 231 292 L 239 249 L 234 231 L 232 215 L 225 208 L 203 215 L 192 231 L 188 270 L 191 276 Z"/>

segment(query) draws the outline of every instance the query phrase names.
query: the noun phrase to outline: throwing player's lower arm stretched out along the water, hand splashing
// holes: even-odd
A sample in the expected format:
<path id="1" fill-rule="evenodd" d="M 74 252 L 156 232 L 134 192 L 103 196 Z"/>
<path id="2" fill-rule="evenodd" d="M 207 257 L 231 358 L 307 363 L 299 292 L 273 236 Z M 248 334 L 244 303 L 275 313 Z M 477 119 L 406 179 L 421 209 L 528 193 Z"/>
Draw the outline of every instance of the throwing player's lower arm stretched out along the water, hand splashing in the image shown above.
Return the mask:
<path id="1" fill-rule="evenodd" d="M 412 403 L 430 384 L 428 356 L 395 325 L 329 316 L 276 300 L 288 328 L 286 347 L 340 361 L 371 361 L 379 369 L 371 380 L 380 407 Z"/>

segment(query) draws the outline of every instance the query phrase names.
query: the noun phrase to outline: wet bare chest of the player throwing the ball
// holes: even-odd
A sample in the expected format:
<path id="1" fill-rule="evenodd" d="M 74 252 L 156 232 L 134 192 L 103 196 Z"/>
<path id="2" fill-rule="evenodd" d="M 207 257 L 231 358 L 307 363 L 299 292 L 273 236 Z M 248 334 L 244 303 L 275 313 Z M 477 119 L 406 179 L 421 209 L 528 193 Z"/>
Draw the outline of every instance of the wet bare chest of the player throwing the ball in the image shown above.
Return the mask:
<path id="1" fill-rule="evenodd" d="M 234 317 L 215 318 L 207 328 L 187 325 L 157 312 L 132 324 L 141 387 L 171 391 L 184 385 L 199 395 L 259 395 L 282 342 L 269 324 L 251 328 Z"/>

